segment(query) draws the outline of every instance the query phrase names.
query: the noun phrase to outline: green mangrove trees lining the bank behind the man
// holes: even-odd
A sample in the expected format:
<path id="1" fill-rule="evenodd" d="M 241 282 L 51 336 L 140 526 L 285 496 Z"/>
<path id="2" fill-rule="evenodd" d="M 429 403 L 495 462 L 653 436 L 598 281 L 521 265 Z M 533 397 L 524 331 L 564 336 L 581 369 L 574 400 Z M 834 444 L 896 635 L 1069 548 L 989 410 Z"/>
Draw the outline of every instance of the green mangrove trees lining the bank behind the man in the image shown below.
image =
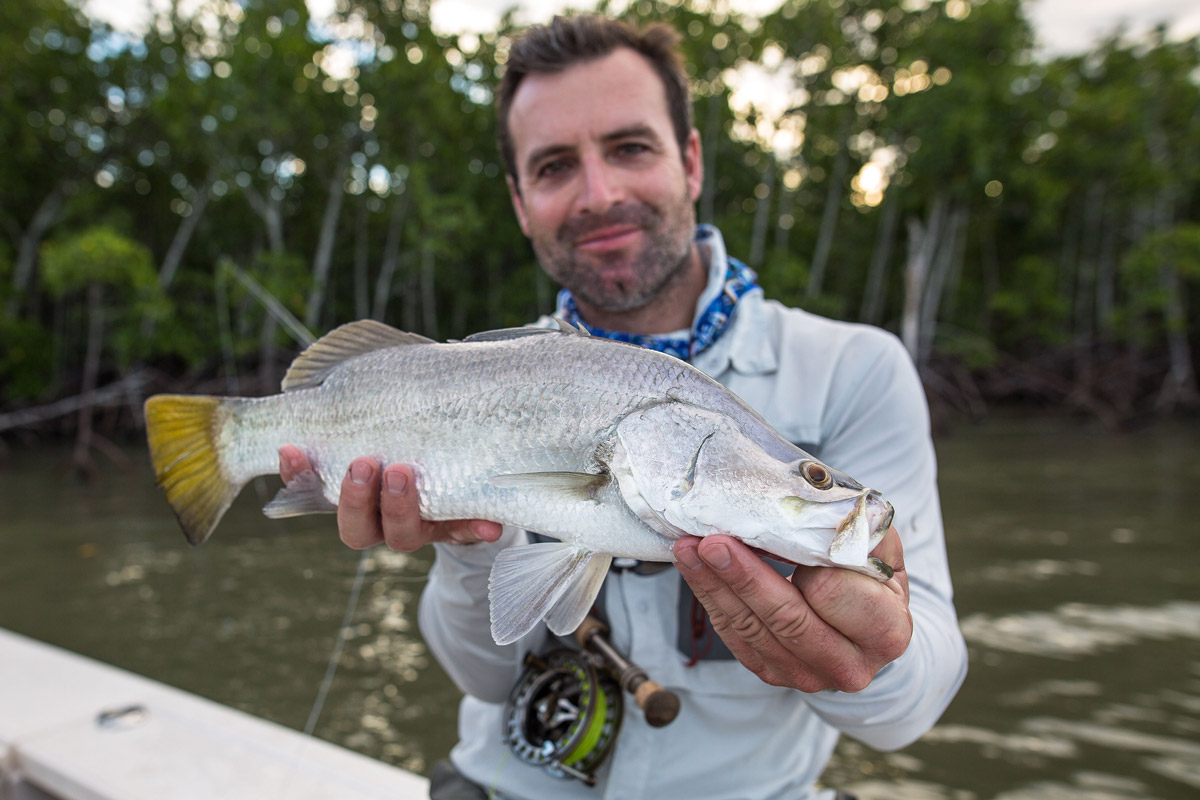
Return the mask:
<path id="1" fill-rule="evenodd" d="M 226 257 L 301 319 L 317 289 L 322 329 L 382 307 L 460 337 L 548 311 L 554 287 L 511 221 L 494 145 L 511 17 L 451 35 L 424 0 L 336 5 L 314 20 L 304 0 L 206 4 L 203 18 L 170 4 L 138 38 L 66 0 L 0 4 L 5 401 L 74 374 L 91 284 L 106 368 L 211 371 L 226 335 L 253 368 L 270 355 L 265 312 L 218 278 Z M 928 225 L 938 197 L 970 219 L 938 353 L 985 366 L 1088 337 L 1162 347 L 1163 270 L 1188 294 L 1200 281 L 1200 41 L 1116 32 L 1039 60 L 1026 7 L 785 0 L 750 17 L 644 0 L 620 13 L 684 34 L 701 219 L 731 253 L 761 252 L 768 296 L 854 319 L 878 287 L 880 319 L 898 327 L 910 223 Z M 731 103 L 751 66 L 780 77 L 773 100 L 794 85 L 782 119 Z M 770 139 L 784 128 L 794 148 Z M 869 164 L 883 164 L 874 194 Z M 829 267 L 810 296 L 829 203 Z M 282 331 L 274 344 L 294 347 Z"/>

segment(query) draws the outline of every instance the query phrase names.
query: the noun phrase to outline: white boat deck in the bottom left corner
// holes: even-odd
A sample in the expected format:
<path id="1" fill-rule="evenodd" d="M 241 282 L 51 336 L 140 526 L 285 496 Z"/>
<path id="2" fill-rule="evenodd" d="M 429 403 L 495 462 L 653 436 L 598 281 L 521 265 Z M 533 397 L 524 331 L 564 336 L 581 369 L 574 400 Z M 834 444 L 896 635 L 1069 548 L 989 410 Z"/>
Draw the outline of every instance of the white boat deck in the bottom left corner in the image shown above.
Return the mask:
<path id="1" fill-rule="evenodd" d="M 428 782 L 0 628 L 0 800 L 409 800 Z"/>

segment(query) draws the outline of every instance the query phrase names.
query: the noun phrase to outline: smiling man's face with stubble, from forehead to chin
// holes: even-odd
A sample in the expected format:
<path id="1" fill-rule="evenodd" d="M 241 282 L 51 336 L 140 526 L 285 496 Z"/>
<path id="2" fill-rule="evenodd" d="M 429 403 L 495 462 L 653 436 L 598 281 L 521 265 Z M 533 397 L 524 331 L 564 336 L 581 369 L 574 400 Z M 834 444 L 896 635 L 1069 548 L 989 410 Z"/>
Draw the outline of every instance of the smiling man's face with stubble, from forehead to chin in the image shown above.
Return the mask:
<path id="1" fill-rule="evenodd" d="M 606 312 L 649 302 L 689 265 L 700 138 L 679 152 L 662 82 L 620 48 L 533 74 L 509 112 L 521 229 L 546 272 Z"/>

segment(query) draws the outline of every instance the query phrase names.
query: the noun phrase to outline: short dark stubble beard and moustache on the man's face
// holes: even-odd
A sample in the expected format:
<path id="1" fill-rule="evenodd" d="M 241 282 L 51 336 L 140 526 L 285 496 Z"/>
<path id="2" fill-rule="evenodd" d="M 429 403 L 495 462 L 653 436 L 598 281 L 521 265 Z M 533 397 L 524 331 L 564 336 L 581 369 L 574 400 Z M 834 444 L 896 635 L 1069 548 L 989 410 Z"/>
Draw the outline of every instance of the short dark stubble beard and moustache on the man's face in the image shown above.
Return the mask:
<path id="1" fill-rule="evenodd" d="M 620 224 L 636 224 L 646 231 L 644 246 L 632 255 L 574 251 L 571 242 L 580 236 Z M 695 227 L 688 198 L 670 216 L 646 204 L 619 205 L 604 215 L 569 219 L 552 241 L 534 237 L 533 248 L 550 277 L 576 299 L 606 313 L 631 312 L 647 306 L 688 271 Z M 626 267 L 630 277 L 606 279 L 606 267 L 625 258 L 632 259 Z"/>

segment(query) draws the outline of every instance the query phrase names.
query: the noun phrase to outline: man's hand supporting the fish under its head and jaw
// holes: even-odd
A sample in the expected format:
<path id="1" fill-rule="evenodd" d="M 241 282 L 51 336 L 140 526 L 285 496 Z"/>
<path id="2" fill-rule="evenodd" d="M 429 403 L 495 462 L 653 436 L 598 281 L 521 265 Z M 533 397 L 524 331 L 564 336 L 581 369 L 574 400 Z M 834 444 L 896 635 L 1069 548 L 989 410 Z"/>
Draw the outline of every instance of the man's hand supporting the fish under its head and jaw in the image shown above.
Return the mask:
<path id="1" fill-rule="evenodd" d="M 731 536 L 674 545 L 679 571 L 738 661 L 774 686 L 857 692 L 912 638 L 908 575 L 895 528 L 871 552 L 895 570 L 875 578 L 800 566 L 791 581 Z"/>

